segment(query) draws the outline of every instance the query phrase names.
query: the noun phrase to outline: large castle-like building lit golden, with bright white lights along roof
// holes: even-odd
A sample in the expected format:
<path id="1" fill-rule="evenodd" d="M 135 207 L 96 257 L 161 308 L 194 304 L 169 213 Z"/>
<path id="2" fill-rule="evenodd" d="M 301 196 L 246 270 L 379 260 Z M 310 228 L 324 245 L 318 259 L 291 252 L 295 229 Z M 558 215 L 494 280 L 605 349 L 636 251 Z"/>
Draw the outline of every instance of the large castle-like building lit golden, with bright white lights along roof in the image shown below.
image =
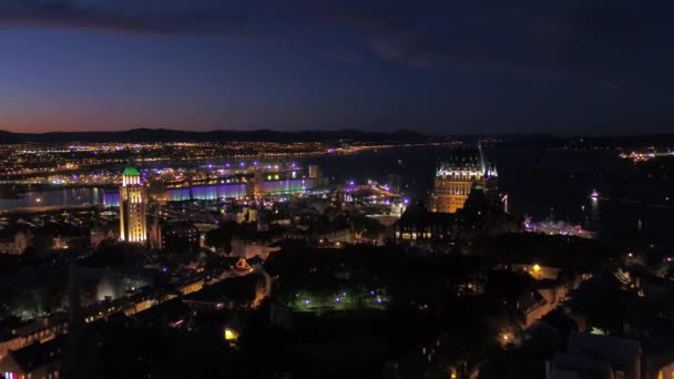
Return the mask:
<path id="1" fill-rule="evenodd" d="M 489 191 L 497 176 L 496 166 L 484 161 L 481 146 L 453 148 L 438 165 L 428 211 L 456 213 L 466 204 L 473 184 Z"/>

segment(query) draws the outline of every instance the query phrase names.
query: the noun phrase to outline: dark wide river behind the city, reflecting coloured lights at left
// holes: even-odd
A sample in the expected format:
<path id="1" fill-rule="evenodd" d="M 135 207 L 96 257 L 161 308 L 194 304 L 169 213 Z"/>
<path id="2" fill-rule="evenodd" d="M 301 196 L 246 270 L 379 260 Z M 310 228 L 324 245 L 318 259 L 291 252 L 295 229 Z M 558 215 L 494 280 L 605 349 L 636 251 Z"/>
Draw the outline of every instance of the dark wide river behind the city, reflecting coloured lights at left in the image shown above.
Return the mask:
<path id="1" fill-rule="evenodd" d="M 407 196 L 421 198 L 432 188 L 436 162 L 445 151 L 438 146 L 385 148 L 351 155 L 326 154 L 298 161 L 318 164 L 334 183 L 350 180 L 387 181 L 389 173 L 402 177 Z M 645 175 L 640 166 L 622 160 L 616 151 L 566 151 L 529 147 L 486 148 L 499 171 L 499 187 L 509 194 L 511 211 L 542 219 L 551 214 L 605 234 L 640 233 L 665 248 L 674 247 L 668 223 L 674 219 L 674 181 L 666 175 Z M 276 184 L 279 186 L 280 184 Z M 284 188 L 302 186 L 284 184 Z M 596 188 L 601 198 L 588 197 Z M 173 201 L 238 197 L 245 184 L 170 190 Z M 668 198 L 668 199 L 667 199 Z M 75 188 L 30 192 L 20 199 L 0 199 L 0 208 L 95 204 L 118 206 L 116 191 Z"/>

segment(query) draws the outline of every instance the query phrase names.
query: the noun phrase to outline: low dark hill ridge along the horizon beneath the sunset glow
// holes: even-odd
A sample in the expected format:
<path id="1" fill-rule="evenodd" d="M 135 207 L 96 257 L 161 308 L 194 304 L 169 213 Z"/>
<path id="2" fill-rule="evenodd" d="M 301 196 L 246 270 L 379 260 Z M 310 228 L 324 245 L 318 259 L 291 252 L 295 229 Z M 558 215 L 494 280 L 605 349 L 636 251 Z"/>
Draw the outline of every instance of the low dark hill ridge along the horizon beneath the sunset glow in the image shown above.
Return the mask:
<path id="1" fill-rule="evenodd" d="M 431 139 L 412 131 L 362 132 L 341 131 L 299 131 L 278 132 L 257 131 L 212 131 L 186 132 L 165 129 L 133 129 L 121 132 L 52 132 L 52 133 L 13 133 L 0 131 L 0 143 L 19 142 L 426 142 Z"/>

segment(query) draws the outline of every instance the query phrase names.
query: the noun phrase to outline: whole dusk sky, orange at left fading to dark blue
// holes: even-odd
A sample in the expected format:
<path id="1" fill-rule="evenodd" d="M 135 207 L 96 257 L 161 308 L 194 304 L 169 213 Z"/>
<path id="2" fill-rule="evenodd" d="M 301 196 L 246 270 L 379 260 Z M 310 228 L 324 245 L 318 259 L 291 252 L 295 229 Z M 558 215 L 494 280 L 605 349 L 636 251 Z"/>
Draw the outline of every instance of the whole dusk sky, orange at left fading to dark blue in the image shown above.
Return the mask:
<path id="1" fill-rule="evenodd" d="M 674 132 L 672 1 L 2 0 L 0 129 Z"/>

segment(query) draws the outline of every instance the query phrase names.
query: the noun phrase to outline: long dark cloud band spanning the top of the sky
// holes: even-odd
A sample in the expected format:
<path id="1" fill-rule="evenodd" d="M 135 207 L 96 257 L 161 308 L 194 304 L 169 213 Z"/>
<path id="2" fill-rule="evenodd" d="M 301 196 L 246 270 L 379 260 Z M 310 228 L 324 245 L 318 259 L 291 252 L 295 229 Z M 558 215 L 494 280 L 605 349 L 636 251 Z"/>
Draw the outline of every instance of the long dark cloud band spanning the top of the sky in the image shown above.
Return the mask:
<path id="1" fill-rule="evenodd" d="M 2 0 L 0 27 L 224 34 L 286 41 L 340 62 L 371 54 L 420 69 L 619 83 L 674 64 L 672 8 L 625 0 Z"/>

